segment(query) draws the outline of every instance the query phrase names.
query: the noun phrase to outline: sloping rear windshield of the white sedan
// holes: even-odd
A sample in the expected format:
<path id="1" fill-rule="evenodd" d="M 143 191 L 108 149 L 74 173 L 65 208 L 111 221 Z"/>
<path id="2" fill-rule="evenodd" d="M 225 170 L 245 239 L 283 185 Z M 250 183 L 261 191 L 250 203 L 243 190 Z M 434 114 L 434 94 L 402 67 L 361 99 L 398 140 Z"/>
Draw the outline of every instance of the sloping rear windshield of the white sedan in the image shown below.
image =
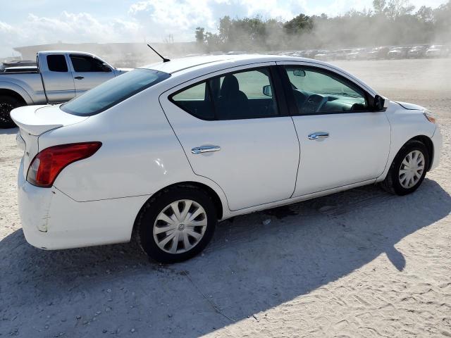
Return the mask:
<path id="1" fill-rule="evenodd" d="M 61 105 L 66 113 L 90 116 L 101 113 L 144 89 L 170 77 L 171 74 L 152 69 L 135 69 L 106 81 L 81 96 Z"/>

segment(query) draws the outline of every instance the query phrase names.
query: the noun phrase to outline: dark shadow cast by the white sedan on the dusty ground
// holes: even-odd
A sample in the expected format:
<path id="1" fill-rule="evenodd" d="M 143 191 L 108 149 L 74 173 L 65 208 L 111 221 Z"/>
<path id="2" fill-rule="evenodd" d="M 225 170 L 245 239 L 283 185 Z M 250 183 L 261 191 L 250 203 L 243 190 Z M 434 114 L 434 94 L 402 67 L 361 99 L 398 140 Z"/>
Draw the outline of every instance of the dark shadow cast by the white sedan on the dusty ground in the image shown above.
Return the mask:
<path id="1" fill-rule="evenodd" d="M 18 230 L 0 242 L 0 334 L 198 337 L 259 320 L 382 253 L 400 273 L 395 244 L 450 211 L 432 180 L 403 197 L 362 187 L 224 221 L 202 256 L 174 265 L 147 261 L 134 242 L 42 251 Z"/>

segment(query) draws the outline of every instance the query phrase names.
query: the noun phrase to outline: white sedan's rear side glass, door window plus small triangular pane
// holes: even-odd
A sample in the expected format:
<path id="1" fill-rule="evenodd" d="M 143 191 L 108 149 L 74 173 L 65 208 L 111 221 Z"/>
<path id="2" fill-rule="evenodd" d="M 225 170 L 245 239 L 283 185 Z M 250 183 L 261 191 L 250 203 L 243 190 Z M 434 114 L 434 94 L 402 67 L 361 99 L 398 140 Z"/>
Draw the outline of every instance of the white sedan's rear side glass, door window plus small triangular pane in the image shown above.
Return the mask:
<path id="1" fill-rule="evenodd" d="M 203 120 L 278 116 L 268 68 L 228 73 L 173 94 L 174 104 Z"/>

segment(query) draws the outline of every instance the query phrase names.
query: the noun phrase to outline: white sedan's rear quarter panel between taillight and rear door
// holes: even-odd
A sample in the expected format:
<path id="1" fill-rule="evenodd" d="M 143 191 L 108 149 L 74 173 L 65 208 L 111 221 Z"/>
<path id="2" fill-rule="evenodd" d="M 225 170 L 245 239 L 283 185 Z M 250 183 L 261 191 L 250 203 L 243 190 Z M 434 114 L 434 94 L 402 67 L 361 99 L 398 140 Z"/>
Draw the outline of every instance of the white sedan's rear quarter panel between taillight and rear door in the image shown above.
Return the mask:
<path id="1" fill-rule="evenodd" d="M 214 182 L 194 175 L 169 125 L 154 87 L 82 123 L 39 137 L 39 150 L 54 144 L 100 141 L 96 154 L 68 165 L 54 186 L 75 201 L 152 195 L 178 182 L 201 182 L 226 196 Z"/>

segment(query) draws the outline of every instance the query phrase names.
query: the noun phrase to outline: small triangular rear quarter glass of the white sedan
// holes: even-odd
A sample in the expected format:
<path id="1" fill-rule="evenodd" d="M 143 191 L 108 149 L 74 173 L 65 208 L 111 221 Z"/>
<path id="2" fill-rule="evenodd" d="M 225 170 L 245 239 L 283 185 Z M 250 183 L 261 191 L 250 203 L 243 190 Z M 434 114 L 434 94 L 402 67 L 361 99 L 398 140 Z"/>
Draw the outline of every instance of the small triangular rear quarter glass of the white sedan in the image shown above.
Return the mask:
<path id="1" fill-rule="evenodd" d="M 177 106 L 202 120 L 214 119 L 209 88 L 206 82 L 199 83 L 172 96 Z"/>

